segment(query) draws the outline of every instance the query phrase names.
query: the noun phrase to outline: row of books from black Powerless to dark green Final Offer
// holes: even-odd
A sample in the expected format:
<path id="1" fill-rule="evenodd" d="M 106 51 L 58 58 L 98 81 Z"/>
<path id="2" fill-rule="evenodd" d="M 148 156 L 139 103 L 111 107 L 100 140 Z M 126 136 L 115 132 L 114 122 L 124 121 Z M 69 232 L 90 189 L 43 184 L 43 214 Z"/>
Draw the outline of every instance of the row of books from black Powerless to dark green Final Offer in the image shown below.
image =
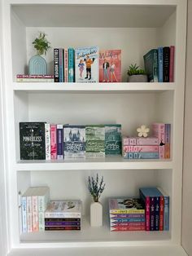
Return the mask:
<path id="1" fill-rule="evenodd" d="M 121 125 L 69 126 L 20 122 L 20 159 L 55 160 L 121 155 Z"/>

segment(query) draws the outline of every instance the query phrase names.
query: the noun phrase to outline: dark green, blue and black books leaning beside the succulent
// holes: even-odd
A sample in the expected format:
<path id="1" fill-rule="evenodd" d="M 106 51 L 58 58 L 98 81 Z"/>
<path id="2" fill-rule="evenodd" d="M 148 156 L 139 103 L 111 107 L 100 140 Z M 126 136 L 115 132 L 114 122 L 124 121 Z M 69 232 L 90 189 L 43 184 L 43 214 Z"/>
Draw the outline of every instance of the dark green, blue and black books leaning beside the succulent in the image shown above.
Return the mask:
<path id="1" fill-rule="evenodd" d="M 149 82 L 174 82 L 175 46 L 159 46 L 143 56 Z"/>

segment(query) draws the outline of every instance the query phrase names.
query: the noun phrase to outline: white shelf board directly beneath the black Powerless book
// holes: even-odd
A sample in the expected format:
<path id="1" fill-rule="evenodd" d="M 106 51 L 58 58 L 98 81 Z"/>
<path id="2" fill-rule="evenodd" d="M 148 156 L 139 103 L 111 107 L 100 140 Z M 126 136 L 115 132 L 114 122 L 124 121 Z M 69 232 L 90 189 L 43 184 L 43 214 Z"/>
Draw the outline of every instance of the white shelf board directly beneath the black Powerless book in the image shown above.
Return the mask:
<path id="1" fill-rule="evenodd" d="M 15 164 L 15 170 L 155 170 L 172 169 L 173 162 L 147 159 L 127 160 L 123 157 L 92 158 L 85 160 L 24 160 Z"/>

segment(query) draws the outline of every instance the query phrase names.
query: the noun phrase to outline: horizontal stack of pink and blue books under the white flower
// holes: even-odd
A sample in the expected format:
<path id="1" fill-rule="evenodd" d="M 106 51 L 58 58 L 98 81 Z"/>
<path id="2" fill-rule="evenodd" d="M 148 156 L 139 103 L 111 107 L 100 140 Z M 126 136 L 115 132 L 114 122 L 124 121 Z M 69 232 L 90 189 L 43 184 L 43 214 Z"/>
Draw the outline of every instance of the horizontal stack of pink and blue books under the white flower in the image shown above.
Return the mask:
<path id="1" fill-rule="evenodd" d="M 123 139 L 124 159 L 159 158 L 159 139 L 155 137 L 130 137 Z"/>

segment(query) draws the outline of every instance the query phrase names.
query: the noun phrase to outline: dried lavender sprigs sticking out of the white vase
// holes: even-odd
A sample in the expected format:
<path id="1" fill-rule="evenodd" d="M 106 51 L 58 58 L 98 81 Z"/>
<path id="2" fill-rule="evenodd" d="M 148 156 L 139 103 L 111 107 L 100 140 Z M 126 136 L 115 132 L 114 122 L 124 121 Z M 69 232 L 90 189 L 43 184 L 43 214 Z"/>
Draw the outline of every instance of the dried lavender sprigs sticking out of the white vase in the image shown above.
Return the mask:
<path id="1" fill-rule="evenodd" d="M 103 190 L 105 188 L 105 183 L 103 181 L 103 177 L 100 182 L 98 180 L 98 174 L 96 176 L 96 179 L 94 179 L 93 177 L 91 177 L 91 178 L 89 177 L 88 183 L 89 183 L 88 188 L 89 188 L 89 192 L 90 192 L 91 196 L 94 197 L 95 202 L 98 202 L 98 199 L 101 196 L 101 194 L 103 193 Z"/>

